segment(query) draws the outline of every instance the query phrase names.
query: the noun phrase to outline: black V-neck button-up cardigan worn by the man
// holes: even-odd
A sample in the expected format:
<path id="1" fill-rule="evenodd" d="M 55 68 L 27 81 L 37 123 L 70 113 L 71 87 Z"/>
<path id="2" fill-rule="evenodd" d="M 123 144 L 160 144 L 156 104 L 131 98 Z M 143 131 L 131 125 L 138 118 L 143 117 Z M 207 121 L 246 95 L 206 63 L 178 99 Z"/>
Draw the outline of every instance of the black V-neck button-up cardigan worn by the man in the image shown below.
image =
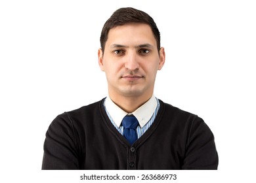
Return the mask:
<path id="1" fill-rule="evenodd" d="M 133 145 L 111 124 L 103 101 L 57 116 L 42 169 L 217 169 L 213 133 L 198 116 L 163 103 Z"/>

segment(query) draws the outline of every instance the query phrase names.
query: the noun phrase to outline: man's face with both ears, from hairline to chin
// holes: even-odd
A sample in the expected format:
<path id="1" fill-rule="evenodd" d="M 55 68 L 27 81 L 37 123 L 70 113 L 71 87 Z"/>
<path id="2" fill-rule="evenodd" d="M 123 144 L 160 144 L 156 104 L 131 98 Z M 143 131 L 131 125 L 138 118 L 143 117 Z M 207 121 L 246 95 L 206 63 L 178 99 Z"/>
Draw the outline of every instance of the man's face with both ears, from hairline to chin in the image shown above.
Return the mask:
<path id="1" fill-rule="evenodd" d="M 125 24 L 110 29 L 104 54 L 98 50 L 100 69 L 106 73 L 111 96 L 151 97 L 156 73 L 165 62 L 147 24 Z"/>

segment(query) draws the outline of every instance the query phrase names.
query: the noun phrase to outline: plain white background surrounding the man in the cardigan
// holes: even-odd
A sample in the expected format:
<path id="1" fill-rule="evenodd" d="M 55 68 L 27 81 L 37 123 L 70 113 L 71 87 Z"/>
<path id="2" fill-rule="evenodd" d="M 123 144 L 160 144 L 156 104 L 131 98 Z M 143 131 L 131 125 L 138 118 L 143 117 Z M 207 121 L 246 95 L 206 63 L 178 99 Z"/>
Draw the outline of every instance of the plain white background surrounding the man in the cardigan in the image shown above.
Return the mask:
<path id="1" fill-rule="evenodd" d="M 13 180 L 41 175 L 52 120 L 106 96 L 97 59 L 100 32 L 114 10 L 135 7 L 154 18 L 166 52 L 156 97 L 209 125 L 219 152 L 217 176 L 251 180 L 256 164 L 254 2 L 0 1 L 1 175 L 10 178 L 18 171 Z"/>

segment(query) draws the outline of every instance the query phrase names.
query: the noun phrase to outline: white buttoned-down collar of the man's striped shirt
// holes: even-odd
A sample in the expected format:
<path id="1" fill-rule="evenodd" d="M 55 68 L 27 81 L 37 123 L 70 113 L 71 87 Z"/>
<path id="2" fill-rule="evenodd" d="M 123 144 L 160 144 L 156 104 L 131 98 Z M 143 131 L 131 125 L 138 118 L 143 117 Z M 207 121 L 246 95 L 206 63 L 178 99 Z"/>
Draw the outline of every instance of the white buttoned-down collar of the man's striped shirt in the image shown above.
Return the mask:
<path id="1" fill-rule="evenodd" d="M 119 108 L 111 99 L 110 97 L 106 97 L 105 107 L 110 114 L 114 123 L 119 127 L 121 125 L 121 121 L 127 114 L 133 114 L 137 120 L 139 121 L 140 127 L 143 127 L 148 123 L 152 115 L 154 114 L 156 107 L 158 106 L 158 102 L 156 101 L 156 97 L 152 95 L 152 97 L 144 103 L 144 105 L 137 108 L 132 113 L 127 113 L 121 108 Z"/>

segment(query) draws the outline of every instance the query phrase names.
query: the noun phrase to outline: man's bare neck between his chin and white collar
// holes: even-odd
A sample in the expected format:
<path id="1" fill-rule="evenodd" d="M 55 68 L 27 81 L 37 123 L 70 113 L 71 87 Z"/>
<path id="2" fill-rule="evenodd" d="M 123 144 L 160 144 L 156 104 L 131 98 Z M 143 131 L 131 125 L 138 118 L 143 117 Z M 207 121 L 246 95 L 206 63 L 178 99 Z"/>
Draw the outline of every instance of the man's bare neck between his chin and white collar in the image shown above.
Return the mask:
<path id="1" fill-rule="evenodd" d="M 110 95 L 110 99 L 125 112 L 131 113 L 137 110 L 140 106 L 142 106 L 146 101 L 148 101 L 151 95 L 142 95 L 140 97 L 126 97 L 126 96 L 117 96 Z"/>

